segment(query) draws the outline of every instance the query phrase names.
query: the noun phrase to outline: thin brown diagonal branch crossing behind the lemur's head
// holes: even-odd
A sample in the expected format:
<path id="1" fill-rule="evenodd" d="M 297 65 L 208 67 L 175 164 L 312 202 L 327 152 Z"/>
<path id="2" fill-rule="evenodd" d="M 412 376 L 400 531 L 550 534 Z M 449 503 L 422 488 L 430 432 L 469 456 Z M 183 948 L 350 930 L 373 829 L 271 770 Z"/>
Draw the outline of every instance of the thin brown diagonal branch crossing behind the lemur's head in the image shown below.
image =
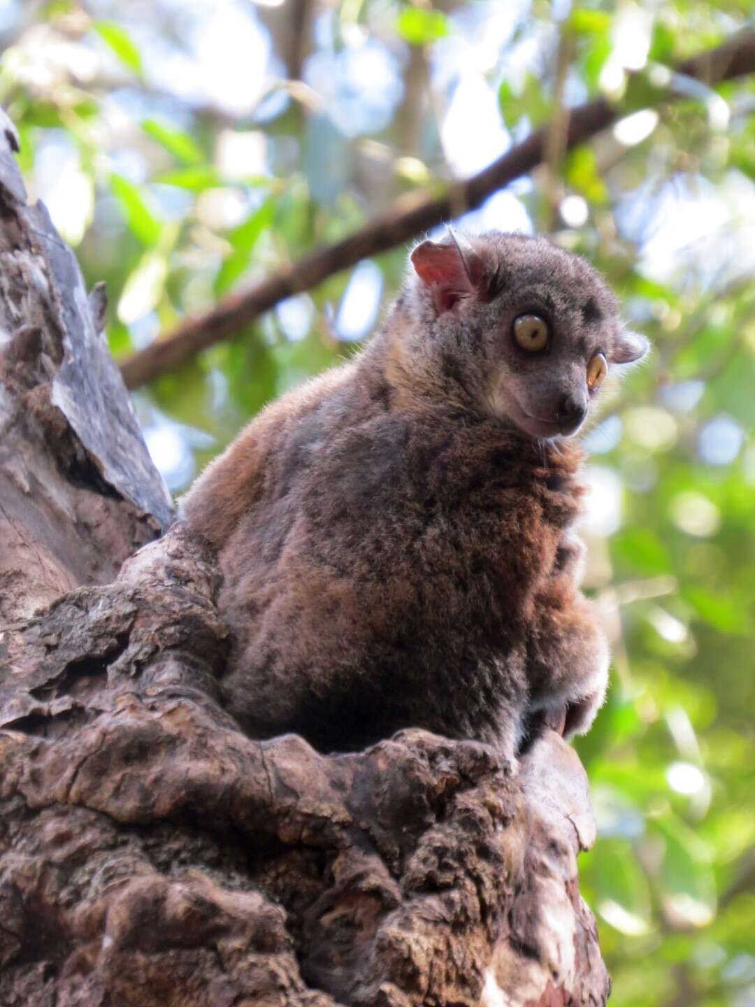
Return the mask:
<path id="1" fill-rule="evenodd" d="M 755 30 L 745 28 L 718 48 L 702 52 L 675 67 L 677 75 L 708 85 L 755 70 Z M 673 83 L 664 97 L 680 97 Z M 566 131 L 565 152 L 589 140 L 622 115 L 619 106 L 596 99 L 574 109 Z M 139 388 L 174 370 L 208 346 L 229 338 L 280 301 L 322 283 L 361 259 L 396 248 L 443 221 L 479 206 L 492 192 L 532 171 L 546 156 L 549 125 L 465 181 L 449 184 L 440 194 L 410 192 L 385 213 L 334 245 L 316 249 L 258 283 L 230 294 L 211 310 L 188 318 L 172 334 L 157 339 L 122 366 L 129 388 Z"/>

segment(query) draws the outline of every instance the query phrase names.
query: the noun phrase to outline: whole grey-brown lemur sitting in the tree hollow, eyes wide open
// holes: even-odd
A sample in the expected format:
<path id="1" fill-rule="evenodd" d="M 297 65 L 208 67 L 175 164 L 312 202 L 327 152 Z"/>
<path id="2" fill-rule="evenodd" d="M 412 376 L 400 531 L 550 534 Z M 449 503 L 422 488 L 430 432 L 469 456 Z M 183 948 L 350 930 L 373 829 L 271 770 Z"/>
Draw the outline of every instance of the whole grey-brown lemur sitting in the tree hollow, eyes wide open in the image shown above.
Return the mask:
<path id="1" fill-rule="evenodd" d="M 221 689 L 253 737 L 348 750 L 420 726 L 513 762 L 603 702 L 566 438 L 647 342 L 544 238 L 449 232 L 411 265 L 363 349 L 265 409 L 183 513 L 218 551 Z"/>

